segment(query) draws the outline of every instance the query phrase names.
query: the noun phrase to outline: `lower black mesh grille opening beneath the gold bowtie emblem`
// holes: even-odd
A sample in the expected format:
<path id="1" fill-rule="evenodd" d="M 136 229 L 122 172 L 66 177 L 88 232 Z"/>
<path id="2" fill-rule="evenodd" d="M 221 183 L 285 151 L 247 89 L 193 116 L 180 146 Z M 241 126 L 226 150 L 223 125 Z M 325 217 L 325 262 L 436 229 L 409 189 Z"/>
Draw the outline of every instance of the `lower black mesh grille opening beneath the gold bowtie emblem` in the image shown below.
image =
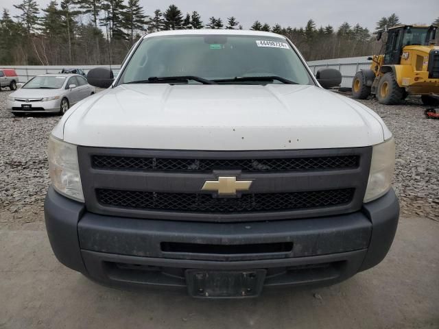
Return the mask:
<path id="1" fill-rule="evenodd" d="M 97 201 L 104 206 L 185 212 L 263 212 L 340 206 L 352 201 L 355 188 L 292 193 L 244 194 L 215 198 L 200 193 L 154 193 L 99 188 Z"/>

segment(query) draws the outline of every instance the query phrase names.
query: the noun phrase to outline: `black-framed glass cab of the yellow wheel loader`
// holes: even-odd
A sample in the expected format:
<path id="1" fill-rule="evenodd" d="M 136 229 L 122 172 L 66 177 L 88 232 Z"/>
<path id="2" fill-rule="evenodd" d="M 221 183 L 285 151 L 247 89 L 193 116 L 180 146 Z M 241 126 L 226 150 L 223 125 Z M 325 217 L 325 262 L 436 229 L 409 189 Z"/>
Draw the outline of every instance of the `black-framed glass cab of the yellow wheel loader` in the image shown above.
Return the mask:
<path id="1" fill-rule="evenodd" d="M 437 27 L 400 25 L 388 30 L 387 42 L 385 42 L 384 64 L 400 64 L 401 55 L 405 46 L 424 45 L 428 46 L 434 39 Z"/>

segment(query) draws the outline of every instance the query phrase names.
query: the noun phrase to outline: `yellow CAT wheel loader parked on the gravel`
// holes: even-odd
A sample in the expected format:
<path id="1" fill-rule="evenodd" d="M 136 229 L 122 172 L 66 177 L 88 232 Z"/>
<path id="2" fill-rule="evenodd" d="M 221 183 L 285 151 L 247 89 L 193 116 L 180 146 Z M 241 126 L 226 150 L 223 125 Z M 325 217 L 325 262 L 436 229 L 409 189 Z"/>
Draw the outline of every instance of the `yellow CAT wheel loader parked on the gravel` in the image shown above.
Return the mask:
<path id="1" fill-rule="evenodd" d="M 375 95 L 382 104 L 397 104 L 407 95 L 421 95 L 425 105 L 439 105 L 437 26 L 398 25 L 388 29 L 384 54 L 374 55 L 370 69 L 358 71 L 353 97 Z M 378 34 L 378 40 L 382 33 Z M 380 51 L 381 52 L 381 51 Z"/>

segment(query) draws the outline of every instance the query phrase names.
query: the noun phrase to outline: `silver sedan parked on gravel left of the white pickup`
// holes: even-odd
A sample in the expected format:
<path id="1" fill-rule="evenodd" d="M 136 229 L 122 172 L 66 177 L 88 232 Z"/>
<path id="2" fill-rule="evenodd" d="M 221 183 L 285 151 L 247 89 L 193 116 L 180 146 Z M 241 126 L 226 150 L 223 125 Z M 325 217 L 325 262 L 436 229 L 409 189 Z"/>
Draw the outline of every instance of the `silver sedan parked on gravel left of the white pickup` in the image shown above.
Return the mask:
<path id="1" fill-rule="evenodd" d="M 38 75 L 8 95 L 7 110 L 16 115 L 26 112 L 64 114 L 70 106 L 94 93 L 95 88 L 81 75 Z"/>

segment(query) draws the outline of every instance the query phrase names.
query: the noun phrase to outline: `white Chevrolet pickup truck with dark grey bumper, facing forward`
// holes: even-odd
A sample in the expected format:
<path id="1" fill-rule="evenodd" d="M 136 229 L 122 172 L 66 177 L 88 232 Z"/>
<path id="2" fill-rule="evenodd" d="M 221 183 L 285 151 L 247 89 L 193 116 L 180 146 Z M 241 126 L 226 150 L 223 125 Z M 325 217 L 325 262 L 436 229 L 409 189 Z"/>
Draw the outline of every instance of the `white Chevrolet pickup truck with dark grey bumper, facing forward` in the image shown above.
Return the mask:
<path id="1" fill-rule="evenodd" d="M 114 287 L 254 297 L 377 265 L 399 218 L 394 139 L 268 32 L 149 34 L 49 138 L 47 232 Z"/>

